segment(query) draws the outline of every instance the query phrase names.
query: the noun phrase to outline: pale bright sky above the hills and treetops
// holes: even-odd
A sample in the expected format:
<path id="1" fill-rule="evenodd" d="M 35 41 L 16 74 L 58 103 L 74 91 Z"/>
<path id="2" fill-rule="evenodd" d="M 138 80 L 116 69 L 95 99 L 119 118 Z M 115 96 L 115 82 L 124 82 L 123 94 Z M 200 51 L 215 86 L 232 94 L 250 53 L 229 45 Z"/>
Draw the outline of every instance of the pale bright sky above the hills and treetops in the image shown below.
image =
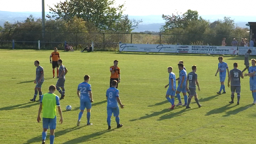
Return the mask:
<path id="1" fill-rule="evenodd" d="M 47 5 L 53 7 L 60 1 L 65 0 L 45 0 L 45 11 L 49 11 Z M 253 11 L 248 12 L 250 5 L 256 5 L 256 1 L 250 1 L 247 4 L 240 0 L 116 0 L 116 4 L 125 3 L 125 12 L 131 16 L 145 15 L 171 15 L 176 10 L 184 13 L 188 9 L 197 10 L 199 15 L 255 15 Z M 241 3 L 242 8 L 239 7 Z M 236 7 L 234 7 L 236 6 Z M 41 12 L 41 0 L 1 0 L 0 11 L 11 12 Z"/>

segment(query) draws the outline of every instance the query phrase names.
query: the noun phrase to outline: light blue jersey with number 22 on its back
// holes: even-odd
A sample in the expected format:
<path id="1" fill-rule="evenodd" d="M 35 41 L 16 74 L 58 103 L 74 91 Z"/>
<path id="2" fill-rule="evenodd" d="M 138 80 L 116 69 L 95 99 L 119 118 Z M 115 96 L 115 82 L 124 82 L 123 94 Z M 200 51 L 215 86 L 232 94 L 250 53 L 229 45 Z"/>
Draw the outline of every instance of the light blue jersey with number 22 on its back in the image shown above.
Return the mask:
<path id="1" fill-rule="evenodd" d="M 91 85 L 87 82 L 82 82 L 78 85 L 77 90 L 80 90 L 80 101 L 91 101 L 89 91 L 91 91 Z"/>

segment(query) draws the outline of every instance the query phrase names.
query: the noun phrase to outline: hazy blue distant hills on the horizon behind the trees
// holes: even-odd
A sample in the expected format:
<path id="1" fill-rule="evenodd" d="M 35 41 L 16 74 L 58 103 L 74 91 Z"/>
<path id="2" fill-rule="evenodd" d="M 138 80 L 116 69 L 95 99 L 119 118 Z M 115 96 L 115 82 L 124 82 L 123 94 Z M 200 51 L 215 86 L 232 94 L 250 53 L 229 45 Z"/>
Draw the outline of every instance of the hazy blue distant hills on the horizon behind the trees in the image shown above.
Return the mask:
<path id="1" fill-rule="evenodd" d="M 45 15 L 51 15 L 49 12 L 45 12 Z M 8 21 L 14 23 L 15 21 L 24 21 L 27 17 L 33 15 L 35 18 L 41 18 L 42 12 L 7 12 L 0 11 L 0 26 Z M 246 28 L 247 22 L 256 22 L 256 16 L 231 16 L 231 15 L 200 15 L 203 19 L 210 20 L 214 22 L 218 19 L 223 19 L 223 17 L 231 17 L 234 19 L 238 27 Z M 133 32 L 144 32 L 144 31 L 154 31 L 159 32 L 160 28 L 165 25 L 165 21 L 162 19 L 162 15 L 148 15 L 148 16 L 129 16 L 130 19 L 142 19 L 138 28 L 134 29 Z M 249 27 L 248 27 L 249 28 Z"/>

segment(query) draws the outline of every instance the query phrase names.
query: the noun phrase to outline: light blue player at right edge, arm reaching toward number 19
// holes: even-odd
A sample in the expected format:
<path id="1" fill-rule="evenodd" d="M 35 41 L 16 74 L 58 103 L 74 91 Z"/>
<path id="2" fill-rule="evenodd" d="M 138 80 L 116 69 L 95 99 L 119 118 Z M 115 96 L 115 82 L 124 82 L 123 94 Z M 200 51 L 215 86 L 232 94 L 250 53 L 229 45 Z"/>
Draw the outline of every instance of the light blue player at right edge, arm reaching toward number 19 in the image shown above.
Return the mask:
<path id="1" fill-rule="evenodd" d="M 244 74 L 245 76 L 250 76 L 250 90 L 252 91 L 253 103 L 256 104 L 256 60 L 251 59 L 252 66 L 249 68 L 249 73 Z"/>

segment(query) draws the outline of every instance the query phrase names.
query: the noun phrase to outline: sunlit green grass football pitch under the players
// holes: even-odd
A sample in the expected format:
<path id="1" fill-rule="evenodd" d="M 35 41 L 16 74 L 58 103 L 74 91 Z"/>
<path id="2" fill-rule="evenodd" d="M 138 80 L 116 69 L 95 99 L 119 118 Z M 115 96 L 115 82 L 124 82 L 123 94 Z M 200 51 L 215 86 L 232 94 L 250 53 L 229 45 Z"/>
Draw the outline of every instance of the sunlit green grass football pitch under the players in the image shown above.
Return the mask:
<path id="1" fill-rule="evenodd" d="M 30 102 L 29 99 L 34 95 L 35 60 L 39 60 L 40 66 L 44 68 L 43 93 L 48 92 L 50 84 L 57 82 L 57 78 L 52 78 L 49 62 L 51 52 L 0 50 L 0 143 L 41 143 L 42 122 L 37 123 L 36 120 L 39 103 Z M 219 63 L 218 56 L 60 51 L 60 57 L 69 72 L 65 82 L 66 96 L 60 101 L 64 121 L 63 124 L 57 124 L 55 131 L 57 144 L 255 143 L 256 108 L 251 105 L 253 98 L 249 77 L 241 79 L 240 105 L 229 104 L 231 93 L 227 78 L 227 94 L 216 95 L 220 88 L 219 76 L 214 76 Z M 243 56 L 224 56 L 224 62 L 230 70 L 234 62 L 243 70 L 243 59 Z M 109 67 L 114 60 L 119 61 L 121 71 L 118 89 L 125 105 L 124 109 L 120 109 L 120 122 L 124 126 L 117 129 L 115 118 L 112 117 L 112 130 L 108 131 L 105 93 L 109 87 Z M 167 67 L 172 66 L 178 77 L 179 60 L 184 61 L 187 72 L 191 72 L 192 65 L 197 65 L 201 87 L 201 91 L 197 92 L 201 108 L 197 108 L 192 99 L 190 106 L 193 109 L 182 106 L 168 109 L 170 103 L 165 98 L 167 89 L 164 88 L 168 84 Z M 93 125 L 86 126 L 84 114 L 81 126 L 77 127 L 80 103 L 76 91 L 85 74 L 91 76 Z M 66 111 L 66 105 L 71 105 L 72 110 Z M 49 143 L 49 132 L 46 142 Z"/>

